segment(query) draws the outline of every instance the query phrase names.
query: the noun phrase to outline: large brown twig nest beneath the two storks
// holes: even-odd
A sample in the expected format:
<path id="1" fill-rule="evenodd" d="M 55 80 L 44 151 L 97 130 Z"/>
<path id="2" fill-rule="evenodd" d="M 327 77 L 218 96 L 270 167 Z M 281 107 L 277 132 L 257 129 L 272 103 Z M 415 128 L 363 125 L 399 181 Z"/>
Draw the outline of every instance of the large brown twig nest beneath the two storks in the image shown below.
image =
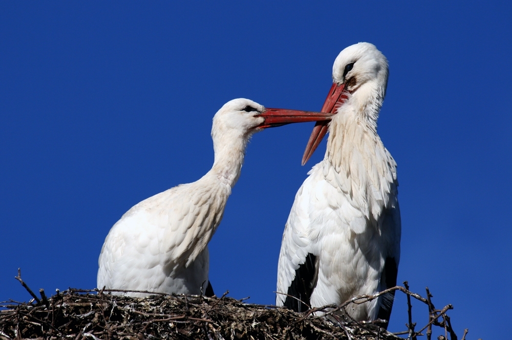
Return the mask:
<path id="1" fill-rule="evenodd" d="M 69 289 L 3 307 L 2 339 L 399 339 L 371 323 L 341 325 L 225 296 L 130 298 Z"/>

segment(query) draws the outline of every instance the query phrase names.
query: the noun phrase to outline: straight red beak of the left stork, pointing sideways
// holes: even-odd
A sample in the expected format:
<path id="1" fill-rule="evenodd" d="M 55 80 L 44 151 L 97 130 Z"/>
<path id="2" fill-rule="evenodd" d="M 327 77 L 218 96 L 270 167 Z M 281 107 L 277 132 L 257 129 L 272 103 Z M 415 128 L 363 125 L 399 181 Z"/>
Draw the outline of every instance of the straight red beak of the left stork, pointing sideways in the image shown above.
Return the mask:
<path id="1" fill-rule="evenodd" d="M 258 125 L 258 128 L 265 129 L 291 123 L 329 121 L 334 116 L 326 112 L 312 112 L 300 110 L 288 110 L 284 108 L 269 108 L 258 117 L 263 117 L 265 121 Z"/>

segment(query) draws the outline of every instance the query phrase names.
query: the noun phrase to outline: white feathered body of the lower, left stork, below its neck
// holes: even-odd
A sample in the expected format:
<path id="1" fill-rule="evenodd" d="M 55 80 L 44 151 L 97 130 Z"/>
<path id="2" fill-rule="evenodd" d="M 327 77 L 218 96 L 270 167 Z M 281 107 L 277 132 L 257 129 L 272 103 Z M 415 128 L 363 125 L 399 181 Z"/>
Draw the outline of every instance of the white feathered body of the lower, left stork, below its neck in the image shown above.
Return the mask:
<path id="1" fill-rule="evenodd" d="M 101 249 L 98 288 L 206 292 L 207 243 L 231 193 L 229 179 L 222 183 L 218 175 L 212 169 L 197 182 L 161 192 L 127 211 Z"/>

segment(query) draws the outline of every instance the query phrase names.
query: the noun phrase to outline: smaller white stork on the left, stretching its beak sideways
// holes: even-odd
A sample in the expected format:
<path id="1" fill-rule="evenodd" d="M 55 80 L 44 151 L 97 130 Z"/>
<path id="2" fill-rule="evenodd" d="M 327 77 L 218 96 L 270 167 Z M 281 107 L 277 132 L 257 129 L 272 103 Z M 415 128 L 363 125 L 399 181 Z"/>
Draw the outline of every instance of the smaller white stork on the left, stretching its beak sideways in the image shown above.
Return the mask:
<path id="1" fill-rule="evenodd" d="M 240 176 L 251 135 L 267 127 L 330 116 L 265 109 L 248 99 L 226 103 L 213 119 L 215 161 L 211 170 L 197 182 L 141 201 L 114 224 L 101 248 L 98 288 L 212 296 L 207 244 Z"/>

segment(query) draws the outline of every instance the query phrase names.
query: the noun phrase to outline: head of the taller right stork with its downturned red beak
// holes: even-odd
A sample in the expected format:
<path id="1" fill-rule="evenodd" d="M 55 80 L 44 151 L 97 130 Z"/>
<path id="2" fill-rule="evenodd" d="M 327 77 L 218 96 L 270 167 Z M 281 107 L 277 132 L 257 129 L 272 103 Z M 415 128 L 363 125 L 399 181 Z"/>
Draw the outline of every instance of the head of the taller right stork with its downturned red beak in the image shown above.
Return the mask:
<path id="1" fill-rule="evenodd" d="M 386 95 L 388 85 L 388 60 L 377 48 L 368 42 L 359 42 L 339 53 L 332 66 L 333 84 L 322 112 L 336 114 L 349 95 L 361 106 L 366 119 L 376 124 L 378 111 Z M 328 122 L 317 122 L 302 164 L 306 164 L 314 150 L 327 133 Z"/>

